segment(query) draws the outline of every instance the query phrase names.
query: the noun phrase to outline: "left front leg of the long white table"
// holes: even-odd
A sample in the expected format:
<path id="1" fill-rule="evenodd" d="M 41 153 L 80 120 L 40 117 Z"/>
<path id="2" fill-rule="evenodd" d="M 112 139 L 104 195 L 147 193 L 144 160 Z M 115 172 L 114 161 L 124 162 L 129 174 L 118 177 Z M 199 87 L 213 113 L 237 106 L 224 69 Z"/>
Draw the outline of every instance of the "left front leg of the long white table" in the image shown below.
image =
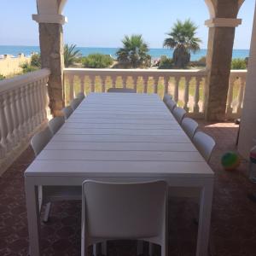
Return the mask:
<path id="1" fill-rule="evenodd" d="M 29 235 L 29 254 L 39 256 L 39 206 L 38 206 L 38 186 L 35 186 L 29 177 L 25 177 L 26 191 L 26 211 Z"/>

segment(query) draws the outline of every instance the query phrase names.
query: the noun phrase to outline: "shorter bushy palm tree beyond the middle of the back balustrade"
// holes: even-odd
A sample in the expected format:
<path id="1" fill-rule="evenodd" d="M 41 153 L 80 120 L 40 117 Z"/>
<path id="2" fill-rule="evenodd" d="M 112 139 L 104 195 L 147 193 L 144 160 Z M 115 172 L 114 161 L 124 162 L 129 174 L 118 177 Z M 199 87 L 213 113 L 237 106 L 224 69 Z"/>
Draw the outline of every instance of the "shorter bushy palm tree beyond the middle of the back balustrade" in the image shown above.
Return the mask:
<path id="1" fill-rule="evenodd" d="M 148 44 L 144 42 L 142 35 L 125 36 L 122 43 L 123 47 L 116 52 L 118 61 L 129 63 L 131 67 L 150 66 L 151 57 L 148 55 Z"/>

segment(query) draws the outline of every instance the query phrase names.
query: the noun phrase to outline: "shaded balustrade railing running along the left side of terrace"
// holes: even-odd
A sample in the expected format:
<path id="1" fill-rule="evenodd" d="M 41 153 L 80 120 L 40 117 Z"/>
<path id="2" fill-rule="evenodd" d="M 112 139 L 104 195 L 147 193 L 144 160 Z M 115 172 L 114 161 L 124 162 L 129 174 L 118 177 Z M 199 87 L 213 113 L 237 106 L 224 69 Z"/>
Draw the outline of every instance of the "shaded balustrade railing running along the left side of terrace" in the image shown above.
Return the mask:
<path id="1" fill-rule="evenodd" d="M 49 70 L 0 81 L 0 174 L 47 121 Z"/>

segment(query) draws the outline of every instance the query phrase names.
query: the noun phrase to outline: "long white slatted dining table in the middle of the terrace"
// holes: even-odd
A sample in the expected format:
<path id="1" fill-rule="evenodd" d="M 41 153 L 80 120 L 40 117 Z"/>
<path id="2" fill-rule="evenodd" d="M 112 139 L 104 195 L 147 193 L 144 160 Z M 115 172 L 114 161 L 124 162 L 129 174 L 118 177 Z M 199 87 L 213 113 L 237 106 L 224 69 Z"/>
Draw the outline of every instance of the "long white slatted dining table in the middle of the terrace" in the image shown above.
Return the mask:
<path id="1" fill-rule="evenodd" d="M 156 94 L 91 93 L 25 172 L 30 252 L 39 256 L 38 186 L 166 180 L 201 191 L 196 256 L 207 256 L 214 175 Z"/>

